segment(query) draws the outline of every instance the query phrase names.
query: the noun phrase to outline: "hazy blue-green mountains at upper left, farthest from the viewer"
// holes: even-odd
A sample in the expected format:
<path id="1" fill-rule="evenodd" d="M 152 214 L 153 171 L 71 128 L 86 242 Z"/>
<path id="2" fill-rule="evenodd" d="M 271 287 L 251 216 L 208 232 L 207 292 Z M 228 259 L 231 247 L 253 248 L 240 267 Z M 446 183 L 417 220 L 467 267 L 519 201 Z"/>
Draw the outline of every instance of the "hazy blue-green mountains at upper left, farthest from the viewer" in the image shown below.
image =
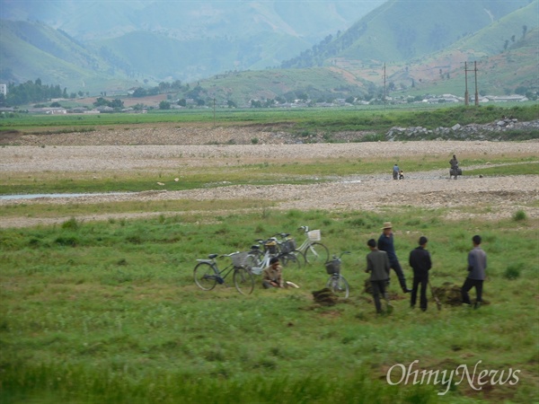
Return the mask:
<path id="1" fill-rule="evenodd" d="M 59 78 L 79 91 L 94 75 L 103 85 L 93 91 L 110 91 L 105 85 L 110 78 L 133 86 L 193 82 L 278 66 L 324 36 L 346 30 L 384 1 L 3 1 L 0 46 L 8 58 L 2 60 L 0 81 Z M 19 48 L 25 55 L 16 54 Z M 75 55 L 60 48 L 73 48 Z M 60 72 L 42 68 L 44 53 L 51 63 L 56 58 Z"/>

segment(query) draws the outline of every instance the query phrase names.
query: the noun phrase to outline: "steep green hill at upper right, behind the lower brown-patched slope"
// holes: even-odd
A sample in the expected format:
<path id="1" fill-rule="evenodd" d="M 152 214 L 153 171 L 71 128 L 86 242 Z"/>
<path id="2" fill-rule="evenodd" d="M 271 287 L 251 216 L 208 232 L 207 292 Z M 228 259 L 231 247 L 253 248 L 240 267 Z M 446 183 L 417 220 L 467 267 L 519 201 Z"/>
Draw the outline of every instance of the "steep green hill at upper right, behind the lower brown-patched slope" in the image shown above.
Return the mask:
<path id="1" fill-rule="evenodd" d="M 320 42 L 283 62 L 281 67 L 328 66 L 335 58 L 364 63 L 409 61 L 448 48 L 533 3 L 536 2 L 390 0 L 339 37 Z M 530 13 L 529 17 L 530 24 L 536 26 L 537 13 Z"/>

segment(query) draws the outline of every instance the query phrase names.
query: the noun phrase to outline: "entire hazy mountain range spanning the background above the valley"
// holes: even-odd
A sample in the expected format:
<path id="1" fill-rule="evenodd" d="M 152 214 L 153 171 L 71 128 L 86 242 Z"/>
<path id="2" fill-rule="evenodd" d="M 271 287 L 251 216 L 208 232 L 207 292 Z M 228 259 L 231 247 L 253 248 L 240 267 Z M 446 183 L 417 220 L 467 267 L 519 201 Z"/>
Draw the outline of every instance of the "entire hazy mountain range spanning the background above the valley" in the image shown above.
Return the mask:
<path id="1" fill-rule="evenodd" d="M 536 90 L 538 25 L 539 0 L 2 0 L 0 82 L 94 94 L 181 81 L 244 103 L 451 92 L 477 60 L 484 90 Z"/>

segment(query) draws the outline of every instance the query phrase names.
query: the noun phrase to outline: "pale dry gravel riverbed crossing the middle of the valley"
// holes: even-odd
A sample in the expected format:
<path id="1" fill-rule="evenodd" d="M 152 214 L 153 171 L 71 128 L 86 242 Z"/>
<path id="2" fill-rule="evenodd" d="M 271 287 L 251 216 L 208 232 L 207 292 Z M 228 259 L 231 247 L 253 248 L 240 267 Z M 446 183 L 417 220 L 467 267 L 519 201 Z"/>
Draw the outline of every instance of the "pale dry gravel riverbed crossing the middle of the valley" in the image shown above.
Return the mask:
<path id="1" fill-rule="evenodd" d="M 255 136 L 255 135 L 252 135 Z M 449 218 L 478 216 L 485 220 L 509 217 L 522 209 L 532 219 L 539 217 L 539 175 L 510 177 L 461 177 L 448 179 L 448 160 L 456 154 L 466 157 L 481 155 L 539 156 L 539 142 L 382 142 L 307 145 L 9 145 L 0 148 L 0 173 L 58 171 L 87 172 L 99 176 L 102 171 L 161 171 L 182 167 L 234 165 L 238 162 L 281 162 L 302 159 L 342 157 L 361 159 L 379 157 L 388 162 L 388 175 L 355 175 L 335 178 L 330 182 L 311 185 L 225 186 L 211 189 L 167 191 L 167 181 L 156 175 L 155 191 L 120 195 L 83 196 L 77 198 L 36 198 L 30 200 L 0 200 L 0 208 L 13 204 L 98 203 L 126 200 L 164 199 L 263 199 L 277 200 L 279 209 L 361 209 L 374 210 L 391 206 L 450 207 Z M 98 142 L 95 142 L 98 143 Z M 414 172 L 405 180 L 391 180 L 393 160 L 405 156 L 439 156 L 437 171 Z M 158 185 L 160 182 L 164 185 Z M 470 206 L 475 206 L 471 209 Z M 465 208 L 463 208 L 465 207 Z M 79 220 L 107 220 L 110 217 L 135 218 L 147 215 L 179 215 L 181 212 L 139 214 L 84 215 Z M 68 217 L 9 217 L 2 227 L 55 224 Z"/>

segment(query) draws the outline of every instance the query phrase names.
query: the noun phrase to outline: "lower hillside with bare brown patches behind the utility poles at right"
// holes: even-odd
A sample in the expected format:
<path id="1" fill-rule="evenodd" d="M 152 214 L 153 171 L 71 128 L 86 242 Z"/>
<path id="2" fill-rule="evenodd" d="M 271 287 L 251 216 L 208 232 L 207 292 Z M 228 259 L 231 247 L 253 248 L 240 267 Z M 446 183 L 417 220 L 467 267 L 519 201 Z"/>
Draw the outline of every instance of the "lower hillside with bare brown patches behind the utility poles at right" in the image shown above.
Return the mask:
<path id="1" fill-rule="evenodd" d="M 373 14 L 383 13 L 386 7 L 392 5 L 389 3 L 367 15 L 365 20 L 373 18 Z M 465 2 L 469 3 L 487 2 Z M 476 6 L 473 4 L 472 9 L 475 10 Z M 222 89 L 228 89 L 228 97 L 240 103 L 248 100 L 245 94 L 258 100 L 283 96 L 290 98 L 293 94 L 301 93 L 307 93 L 316 101 L 330 99 L 331 96 L 369 99 L 384 92 L 384 79 L 385 92 L 390 98 L 426 93 L 452 93 L 462 97 L 465 91 L 464 63 L 467 62 L 468 70 L 472 70 L 473 63 L 477 62 L 478 90 L 481 93 L 503 95 L 516 91 L 537 92 L 538 7 L 537 0 L 526 2 L 525 6 L 484 25 L 481 30 L 464 35 L 446 48 L 403 61 L 385 63 L 384 60 L 366 60 L 362 58 L 363 54 L 349 51 L 351 56 L 345 57 L 343 55 L 348 53 L 343 52 L 339 57 L 323 59 L 320 63 L 322 66 L 318 67 L 318 64 L 314 64 L 306 68 L 252 72 L 241 75 L 243 79 L 219 75 L 201 81 L 200 84 L 211 89 L 211 94 L 219 94 Z M 506 9 L 495 10 L 501 13 Z M 353 31 L 357 26 L 354 25 L 350 30 Z M 345 31 L 341 37 L 348 34 Z M 329 42 L 326 45 L 329 46 Z M 318 48 L 320 54 L 323 48 L 321 44 Z M 469 71 L 471 94 L 474 92 L 474 80 L 474 72 Z M 248 91 L 246 87 L 250 83 L 251 91 Z"/>

